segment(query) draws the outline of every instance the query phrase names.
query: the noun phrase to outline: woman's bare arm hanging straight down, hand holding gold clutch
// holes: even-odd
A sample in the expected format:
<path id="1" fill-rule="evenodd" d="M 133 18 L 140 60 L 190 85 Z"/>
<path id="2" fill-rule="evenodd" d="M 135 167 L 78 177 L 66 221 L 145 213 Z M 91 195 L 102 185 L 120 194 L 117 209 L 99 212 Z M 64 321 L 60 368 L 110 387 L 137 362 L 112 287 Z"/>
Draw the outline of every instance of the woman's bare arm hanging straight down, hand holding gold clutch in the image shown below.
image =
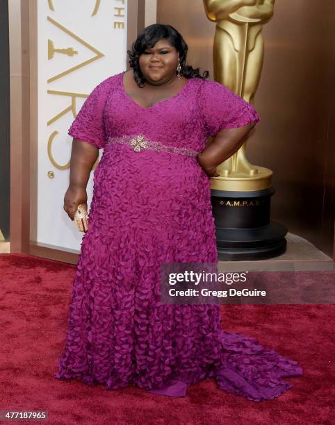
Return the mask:
<path id="1" fill-rule="evenodd" d="M 99 156 L 99 149 L 90 143 L 75 138 L 72 141 L 70 159 L 70 184 L 65 192 L 64 210 L 70 219 L 74 220 L 74 213 L 79 204 L 87 211 L 86 186 L 90 178 L 92 167 Z"/>

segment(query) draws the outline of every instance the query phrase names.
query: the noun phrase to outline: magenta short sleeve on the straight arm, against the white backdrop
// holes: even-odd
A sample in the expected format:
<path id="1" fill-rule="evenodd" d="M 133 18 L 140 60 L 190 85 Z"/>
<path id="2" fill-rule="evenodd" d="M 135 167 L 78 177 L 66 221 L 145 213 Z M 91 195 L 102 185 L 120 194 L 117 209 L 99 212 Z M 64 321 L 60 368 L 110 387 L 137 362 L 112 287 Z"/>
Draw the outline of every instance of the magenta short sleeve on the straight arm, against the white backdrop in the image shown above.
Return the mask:
<path id="1" fill-rule="evenodd" d="M 106 142 L 104 108 L 111 90 L 111 77 L 102 81 L 81 106 L 68 134 L 101 149 Z"/>

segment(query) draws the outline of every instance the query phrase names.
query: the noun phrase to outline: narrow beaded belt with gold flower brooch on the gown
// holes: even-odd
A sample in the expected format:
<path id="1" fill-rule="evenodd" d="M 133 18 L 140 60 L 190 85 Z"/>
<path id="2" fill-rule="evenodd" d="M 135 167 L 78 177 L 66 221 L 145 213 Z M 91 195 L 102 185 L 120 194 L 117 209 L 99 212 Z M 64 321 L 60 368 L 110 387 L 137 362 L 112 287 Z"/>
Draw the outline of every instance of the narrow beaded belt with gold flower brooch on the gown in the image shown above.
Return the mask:
<path id="1" fill-rule="evenodd" d="M 199 153 L 189 148 L 177 148 L 174 146 L 167 146 L 166 144 L 162 144 L 161 142 L 154 142 L 153 140 L 149 140 L 145 138 L 145 136 L 142 134 L 135 135 L 135 136 L 124 135 L 120 138 L 109 138 L 108 143 L 129 144 L 129 146 L 133 147 L 133 150 L 135 152 L 140 152 L 143 149 L 152 149 L 153 151 L 181 153 L 181 155 L 186 155 L 186 156 L 197 156 Z"/>

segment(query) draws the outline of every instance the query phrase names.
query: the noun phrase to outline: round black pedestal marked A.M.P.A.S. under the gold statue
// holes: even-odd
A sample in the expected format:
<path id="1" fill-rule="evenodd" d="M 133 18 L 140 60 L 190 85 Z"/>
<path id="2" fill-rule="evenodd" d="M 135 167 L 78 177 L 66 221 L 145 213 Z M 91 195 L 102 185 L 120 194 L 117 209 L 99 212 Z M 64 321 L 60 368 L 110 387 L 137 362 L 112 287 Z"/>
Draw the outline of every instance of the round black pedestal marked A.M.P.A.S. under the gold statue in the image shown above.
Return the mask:
<path id="1" fill-rule="evenodd" d="M 272 186 L 235 192 L 211 190 L 219 260 L 263 260 L 286 251 L 287 228 L 270 222 Z"/>

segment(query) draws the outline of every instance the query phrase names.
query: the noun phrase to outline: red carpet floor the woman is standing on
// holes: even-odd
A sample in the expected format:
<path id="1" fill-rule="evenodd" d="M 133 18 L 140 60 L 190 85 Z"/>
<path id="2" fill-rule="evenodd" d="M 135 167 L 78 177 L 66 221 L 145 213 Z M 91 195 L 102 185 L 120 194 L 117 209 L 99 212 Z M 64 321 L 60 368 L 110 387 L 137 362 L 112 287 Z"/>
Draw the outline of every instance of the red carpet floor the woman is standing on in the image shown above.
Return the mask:
<path id="1" fill-rule="evenodd" d="M 54 378 L 63 350 L 76 267 L 25 254 L 0 255 L 0 410 L 47 410 L 51 424 L 335 424 L 334 305 L 222 306 L 222 326 L 300 363 L 303 376 L 278 399 L 254 402 L 213 378 L 183 398 L 90 387 Z M 284 279 L 291 272 L 263 273 Z M 295 278 L 334 278 L 296 272 Z M 42 423 L 42 422 L 39 422 Z"/>

